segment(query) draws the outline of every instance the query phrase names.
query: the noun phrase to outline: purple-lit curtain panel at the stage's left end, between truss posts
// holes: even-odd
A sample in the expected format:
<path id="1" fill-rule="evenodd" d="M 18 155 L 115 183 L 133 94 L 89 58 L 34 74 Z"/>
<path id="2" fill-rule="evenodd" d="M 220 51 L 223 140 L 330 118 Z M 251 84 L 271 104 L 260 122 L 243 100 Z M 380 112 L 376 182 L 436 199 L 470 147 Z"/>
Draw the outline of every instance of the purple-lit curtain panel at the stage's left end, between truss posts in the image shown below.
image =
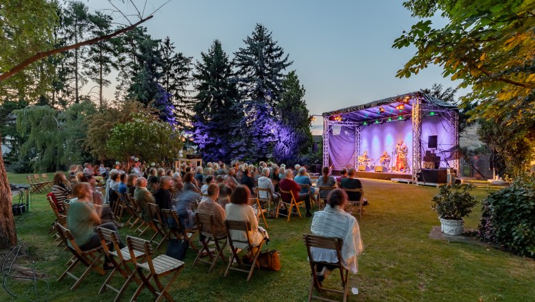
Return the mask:
<path id="1" fill-rule="evenodd" d="M 332 126 L 329 130 L 329 159 L 335 170 L 355 164 L 355 128 Z"/>

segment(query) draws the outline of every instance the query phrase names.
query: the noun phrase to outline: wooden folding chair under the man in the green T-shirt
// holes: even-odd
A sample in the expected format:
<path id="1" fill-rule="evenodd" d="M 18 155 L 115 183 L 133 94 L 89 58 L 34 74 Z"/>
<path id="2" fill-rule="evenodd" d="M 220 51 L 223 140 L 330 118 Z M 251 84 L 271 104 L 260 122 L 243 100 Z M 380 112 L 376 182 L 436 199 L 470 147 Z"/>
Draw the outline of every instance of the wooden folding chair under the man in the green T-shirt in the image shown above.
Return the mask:
<path id="1" fill-rule="evenodd" d="M 80 286 L 80 284 L 82 284 L 82 281 L 84 281 L 87 275 L 89 275 L 89 272 L 92 270 L 95 270 L 100 275 L 105 274 L 104 269 L 101 267 L 103 264 L 102 257 L 104 257 L 104 249 L 102 246 L 91 248 L 91 250 L 82 251 L 80 246 L 78 246 L 78 244 L 76 244 L 74 241 L 71 231 L 59 223 L 56 223 L 56 230 L 58 231 L 58 234 L 60 234 L 64 244 L 68 246 L 69 251 L 71 251 L 71 253 L 74 255 L 73 259 L 71 259 L 71 262 L 69 262 L 69 267 L 58 278 L 58 281 L 61 281 L 65 276 L 69 275 L 69 277 L 76 280 L 74 285 L 71 287 L 71 290 L 75 290 L 78 288 L 78 286 Z M 80 277 L 76 277 L 71 271 L 80 263 L 86 266 L 86 270 L 84 270 L 84 273 Z"/>

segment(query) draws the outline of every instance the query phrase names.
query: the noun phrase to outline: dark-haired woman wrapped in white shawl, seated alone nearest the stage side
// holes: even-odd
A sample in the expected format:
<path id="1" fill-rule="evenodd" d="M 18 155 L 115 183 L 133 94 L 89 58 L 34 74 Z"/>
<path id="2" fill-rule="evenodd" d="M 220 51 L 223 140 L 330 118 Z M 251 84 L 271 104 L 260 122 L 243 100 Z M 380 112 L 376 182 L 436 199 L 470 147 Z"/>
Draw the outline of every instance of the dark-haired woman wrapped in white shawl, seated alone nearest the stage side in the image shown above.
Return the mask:
<path id="1" fill-rule="evenodd" d="M 344 240 L 342 245 L 342 266 L 356 274 L 357 256 L 362 253 L 362 240 L 357 219 L 344 211 L 347 195 L 342 189 L 333 189 L 327 196 L 327 205 L 323 211 L 316 211 L 312 219 L 311 233 L 324 237 L 338 237 Z M 337 263 L 336 251 L 324 248 L 311 248 L 314 260 Z M 318 281 L 323 281 L 337 266 L 318 266 Z"/>

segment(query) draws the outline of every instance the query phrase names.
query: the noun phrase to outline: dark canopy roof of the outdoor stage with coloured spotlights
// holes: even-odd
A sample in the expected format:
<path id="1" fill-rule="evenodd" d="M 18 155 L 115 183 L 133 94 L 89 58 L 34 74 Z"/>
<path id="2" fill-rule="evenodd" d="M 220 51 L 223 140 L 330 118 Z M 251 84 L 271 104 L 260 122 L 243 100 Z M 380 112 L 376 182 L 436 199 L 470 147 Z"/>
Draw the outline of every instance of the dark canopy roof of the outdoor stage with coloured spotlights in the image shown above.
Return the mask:
<path id="1" fill-rule="evenodd" d="M 330 111 L 323 113 L 323 117 L 331 117 L 340 115 L 344 121 L 373 121 L 378 119 L 388 119 L 395 117 L 403 117 L 410 115 L 412 113 L 412 102 L 413 98 L 416 96 L 422 97 L 422 105 L 429 108 L 443 109 L 443 110 L 454 110 L 457 108 L 456 105 L 448 104 L 442 100 L 438 100 L 436 97 L 431 97 L 423 91 L 415 91 L 411 93 L 405 93 L 403 95 L 396 95 L 394 97 L 388 97 L 383 100 L 377 100 L 369 102 L 366 104 L 361 104 L 357 106 L 350 106 L 347 108 L 338 109 L 335 111 Z M 403 100 L 408 99 L 407 102 Z M 403 109 L 396 108 L 399 104 L 403 103 Z M 383 108 L 383 112 L 380 112 L 379 109 Z"/>

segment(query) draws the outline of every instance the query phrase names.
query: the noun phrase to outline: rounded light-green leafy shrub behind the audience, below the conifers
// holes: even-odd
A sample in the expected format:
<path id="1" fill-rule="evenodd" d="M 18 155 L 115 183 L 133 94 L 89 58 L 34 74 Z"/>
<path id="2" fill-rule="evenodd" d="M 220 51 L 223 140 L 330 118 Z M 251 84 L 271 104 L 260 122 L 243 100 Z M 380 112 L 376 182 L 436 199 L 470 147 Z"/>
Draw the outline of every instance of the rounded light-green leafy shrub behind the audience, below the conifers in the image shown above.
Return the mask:
<path id="1" fill-rule="evenodd" d="M 145 161 L 170 163 L 182 150 L 180 132 L 158 116 L 134 113 L 132 121 L 115 125 L 106 141 L 108 155 L 115 159 L 139 156 Z"/>

